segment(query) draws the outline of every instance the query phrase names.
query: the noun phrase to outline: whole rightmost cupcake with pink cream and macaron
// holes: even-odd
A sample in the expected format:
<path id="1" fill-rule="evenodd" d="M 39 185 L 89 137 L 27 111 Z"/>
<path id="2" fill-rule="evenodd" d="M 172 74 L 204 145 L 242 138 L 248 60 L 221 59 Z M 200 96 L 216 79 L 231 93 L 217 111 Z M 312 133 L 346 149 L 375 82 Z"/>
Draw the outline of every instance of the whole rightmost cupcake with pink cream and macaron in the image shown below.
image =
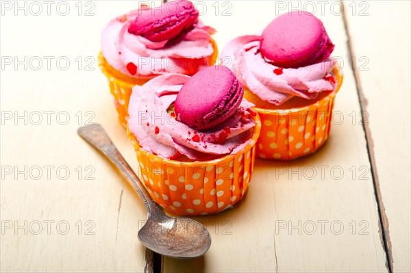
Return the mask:
<path id="1" fill-rule="evenodd" d="M 240 36 L 223 49 L 221 64 L 231 64 L 261 118 L 258 157 L 295 159 L 325 143 L 343 83 L 333 50 L 323 23 L 302 11 L 278 16 L 260 36 Z"/>

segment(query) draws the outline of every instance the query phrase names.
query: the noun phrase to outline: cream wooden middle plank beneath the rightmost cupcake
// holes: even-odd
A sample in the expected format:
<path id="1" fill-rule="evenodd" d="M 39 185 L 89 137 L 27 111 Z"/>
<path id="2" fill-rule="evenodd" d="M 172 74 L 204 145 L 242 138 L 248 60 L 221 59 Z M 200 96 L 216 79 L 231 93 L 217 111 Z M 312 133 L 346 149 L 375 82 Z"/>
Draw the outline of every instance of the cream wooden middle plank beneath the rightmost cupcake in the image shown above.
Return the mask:
<path id="1" fill-rule="evenodd" d="M 203 15 L 206 23 L 218 29 L 219 47 L 236 36 L 257 33 L 276 12 L 284 12 L 279 11 L 278 1 L 229 3 L 232 16 L 222 16 L 221 10 L 216 15 L 212 3 Z M 281 3 L 285 11 L 290 8 L 289 1 Z M 293 3 L 310 8 L 308 2 Z M 192 261 L 164 258 L 164 272 L 388 271 L 364 130 L 358 120 L 353 125 L 349 116 L 360 112 L 360 104 L 348 65 L 343 16 L 333 14 L 330 3 L 324 15 L 321 6 L 314 5 L 315 14 L 337 45 L 334 56 L 345 63 L 345 82 L 335 108 L 343 122 L 334 124 L 327 144 L 315 155 L 289 163 L 256 160 L 245 200 L 231 211 L 197 218 L 212 235 L 206 255 Z M 323 176 L 321 168 L 325 169 Z M 314 177 L 311 170 L 316 172 Z"/>

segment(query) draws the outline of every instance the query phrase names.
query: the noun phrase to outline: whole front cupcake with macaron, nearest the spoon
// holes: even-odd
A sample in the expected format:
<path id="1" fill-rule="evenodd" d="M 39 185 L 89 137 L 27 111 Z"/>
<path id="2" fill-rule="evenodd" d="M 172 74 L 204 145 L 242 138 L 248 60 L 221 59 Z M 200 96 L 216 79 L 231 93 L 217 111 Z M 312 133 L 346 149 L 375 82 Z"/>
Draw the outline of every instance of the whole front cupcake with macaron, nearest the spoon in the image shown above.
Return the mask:
<path id="1" fill-rule="evenodd" d="M 260 120 L 225 66 L 165 74 L 133 88 L 127 134 L 142 181 L 177 215 L 231 208 L 244 196 Z"/>

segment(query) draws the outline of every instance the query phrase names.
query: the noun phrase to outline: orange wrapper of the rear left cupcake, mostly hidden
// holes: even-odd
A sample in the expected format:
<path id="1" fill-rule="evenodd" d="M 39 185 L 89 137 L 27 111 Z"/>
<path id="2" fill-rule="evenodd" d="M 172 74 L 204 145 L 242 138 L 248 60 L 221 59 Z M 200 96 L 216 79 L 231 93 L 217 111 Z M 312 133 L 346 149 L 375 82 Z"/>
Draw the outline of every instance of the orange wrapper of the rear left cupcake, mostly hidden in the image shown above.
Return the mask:
<path id="1" fill-rule="evenodd" d="M 218 49 L 216 42 L 212 40 L 212 47 L 214 49 L 213 55 L 210 57 L 210 66 L 216 62 Z M 128 105 L 130 96 L 132 95 L 132 88 L 136 85 L 142 86 L 147 83 L 151 78 L 136 79 L 124 75 L 119 70 L 114 69 L 105 60 L 103 53 L 99 53 L 99 67 L 101 71 L 108 78 L 108 85 L 110 87 L 110 93 L 114 96 L 114 106 L 119 113 L 119 121 L 125 128 L 128 120 Z"/>

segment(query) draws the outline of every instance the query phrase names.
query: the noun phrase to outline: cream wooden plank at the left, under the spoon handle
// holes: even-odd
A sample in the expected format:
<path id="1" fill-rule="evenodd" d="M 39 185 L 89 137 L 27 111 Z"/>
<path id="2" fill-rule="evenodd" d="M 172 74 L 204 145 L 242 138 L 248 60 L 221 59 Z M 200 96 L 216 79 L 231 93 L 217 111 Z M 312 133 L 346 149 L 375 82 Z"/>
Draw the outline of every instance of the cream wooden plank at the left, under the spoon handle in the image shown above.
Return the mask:
<path id="1" fill-rule="evenodd" d="M 97 59 L 105 24 L 138 3 L 81 2 L 82 16 L 76 1 L 66 3 L 66 16 L 56 12 L 56 3 L 50 16 L 45 5 L 39 16 L 25 16 L 24 10 L 18 16 L 14 10 L 1 16 L 1 55 L 12 60 L 27 56 L 27 70 L 24 64 L 1 69 L 0 271 L 153 272 L 152 253 L 137 239 L 145 207 L 108 160 L 76 133 L 89 118 L 101 123 L 137 167 L 132 145 L 117 121 L 107 79 L 92 61 Z M 84 16 L 87 10 L 95 15 Z M 29 63 L 35 56 L 43 62 L 39 70 L 34 69 L 36 62 Z M 45 56 L 53 57 L 50 70 Z M 91 59 L 86 60 L 88 56 Z M 70 61 L 68 69 L 60 69 L 63 61 L 57 66 L 59 57 Z M 86 70 L 88 64 L 92 70 Z M 45 111 L 52 111 L 49 121 Z M 27 125 L 24 118 L 16 120 L 17 115 L 26 115 Z M 66 117 L 70 120 L 64 125 Z M 8 166 L 13 169 L 10 174 Z M 23 173 L 16 174 L 14 166 Z M 65 170 L 70 172 L 67 178 Z"/>

